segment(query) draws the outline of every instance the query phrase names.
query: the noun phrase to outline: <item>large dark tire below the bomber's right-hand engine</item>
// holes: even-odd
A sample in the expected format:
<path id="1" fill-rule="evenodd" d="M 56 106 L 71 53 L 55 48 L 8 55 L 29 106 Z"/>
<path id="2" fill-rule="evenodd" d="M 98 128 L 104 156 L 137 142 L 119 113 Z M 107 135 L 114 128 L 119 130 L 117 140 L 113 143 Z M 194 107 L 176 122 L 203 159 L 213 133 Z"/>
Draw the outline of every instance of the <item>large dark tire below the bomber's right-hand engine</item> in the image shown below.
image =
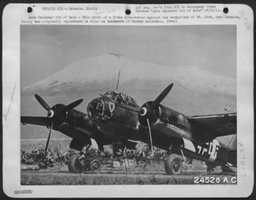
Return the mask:
<path id="1" fill-rule="evenodd" d="M 182 171 L 182 161 L 177 154 L 168 155 L 164 162 L 164 169 L 168 175 L 179 175 Z"/>

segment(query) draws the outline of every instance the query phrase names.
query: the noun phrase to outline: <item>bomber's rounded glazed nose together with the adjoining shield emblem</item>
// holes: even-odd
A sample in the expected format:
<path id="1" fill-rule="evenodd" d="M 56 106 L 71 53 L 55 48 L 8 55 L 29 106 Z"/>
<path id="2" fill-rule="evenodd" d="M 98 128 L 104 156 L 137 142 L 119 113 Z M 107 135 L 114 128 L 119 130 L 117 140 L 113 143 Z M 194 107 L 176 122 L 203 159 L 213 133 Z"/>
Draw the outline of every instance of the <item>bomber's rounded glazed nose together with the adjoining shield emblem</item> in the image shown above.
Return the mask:
<path id="1" fill-rule="evenodd" d="M 91 120 L 101 120 L 103 117 L 110 118 L 113 110 L 115 110 L 115 104 L 104 101 L 101 97 L 93 99 L 87 107 L 88 117 Z"/>

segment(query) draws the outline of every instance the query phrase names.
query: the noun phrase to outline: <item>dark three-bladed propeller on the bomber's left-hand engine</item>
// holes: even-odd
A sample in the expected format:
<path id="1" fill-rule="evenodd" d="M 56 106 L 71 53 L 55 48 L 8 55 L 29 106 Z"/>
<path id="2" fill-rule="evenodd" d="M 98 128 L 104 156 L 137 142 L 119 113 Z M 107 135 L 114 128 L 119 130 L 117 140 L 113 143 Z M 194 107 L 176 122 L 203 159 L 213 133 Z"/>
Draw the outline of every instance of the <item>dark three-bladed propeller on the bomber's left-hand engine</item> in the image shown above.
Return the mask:
<path id="1" fill-rule="evenodd" d="M 49 104 L 47 104 L 44 99 L 42 97 L 40 97 L 38 94 L 35 94 L 36 100 L 38 101 L 38 103 L 40 103 L 45 110 L 48 111 L 47 113 L 47 117 L 51 122 L 51 127 L 50 127 L 50 131 L 49 131 L 49 135 L 47 138 L 47 142 L 46 142 L 46 146 L 45 146 L 45 154 L 48 150 L 49 147 L 49 142 L 50 142 L 50 138 L 51 138 L 51 132 L 52 132 L 52 127 L 54 125 L 54 122 L 56 122 L 56 120 L 58 120 L 58 116 L 63 115 L 63 113 L 66 113 L 67 111 L 72 110 L 73 108 L 75 108 L 76 106 L 78 106 L 79 104 L 81 104 L 83 102 L 83 99 L 79 99 L 77 101 L 74 101 L 70 104 L 68 104 L 67 106 L 61 105 L 63 107 L 61 107 L 60 109 L 56 108 L 58 106 L 58 104 L 56 104 L 55 106 L 53 106 L 52 108 L 49 106 Z"/>

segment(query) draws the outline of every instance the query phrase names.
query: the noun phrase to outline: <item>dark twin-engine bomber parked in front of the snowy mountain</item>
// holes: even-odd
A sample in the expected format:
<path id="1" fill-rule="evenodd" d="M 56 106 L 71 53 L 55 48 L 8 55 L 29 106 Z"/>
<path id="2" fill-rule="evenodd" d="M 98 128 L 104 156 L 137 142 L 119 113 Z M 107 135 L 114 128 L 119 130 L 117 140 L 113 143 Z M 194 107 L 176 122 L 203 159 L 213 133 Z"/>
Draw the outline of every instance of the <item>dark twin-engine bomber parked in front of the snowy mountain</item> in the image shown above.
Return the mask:
<path id="1" fill-rule="evenodd" d="M 114 154 L 117 151 L 122 154 L 125 147 L 134 148 L 134 140 L 148 143 L 151 151 L 153 146 L 164 149 L 168 152 L 164 163 L 167 174 L 181 173 L 180 156 L 204 161 L 209 168 L 221 166 L 223 171 L 230 171 L 230 166 L 236 167 L 237 113 L 184 115 L 161 104 L 172 87 L 173 83 L 154 101 L 148 101 L 141 107 L 131 97 L 118 92 L 116 87 L 115 92 L 106 92 L 93 99 L 87 106 L 87 114 L 74 109 L 83 99 L 51 108 L 42 97 L 35 95 L 47 110 L 47 117 L 22 116 L 21 122 L 50 128 L 45 152 L 51 129 L 54 129 L 72 138 L 70 148 L 80 151 L 84 146 L 92 145 L 91 139 L 97 142 L 100 150 L 104 150 L 104 145 L 113 145 Z M 216 139 L 230 134 L 234 136 L 228 146 Z M 97 161 L 81 159 L 75 154 L 70 157 L 68 169 L 76 173 L 89 168 L 97 171 L 100 169 Z"/>

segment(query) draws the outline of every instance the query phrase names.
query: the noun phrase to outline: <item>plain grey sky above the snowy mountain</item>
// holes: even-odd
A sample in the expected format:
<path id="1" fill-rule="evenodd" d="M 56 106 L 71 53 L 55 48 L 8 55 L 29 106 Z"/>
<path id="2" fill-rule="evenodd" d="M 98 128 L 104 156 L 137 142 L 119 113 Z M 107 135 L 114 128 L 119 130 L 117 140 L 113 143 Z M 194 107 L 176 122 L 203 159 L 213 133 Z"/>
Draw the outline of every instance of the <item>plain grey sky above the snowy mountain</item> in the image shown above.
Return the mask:
<path id="1" fill-rule="evenodd" d="M 72 62 L 109 52 L 133 61 L 197 66 L 236 78 L 236 25 L 22 25 L 21 87 Z"/>

